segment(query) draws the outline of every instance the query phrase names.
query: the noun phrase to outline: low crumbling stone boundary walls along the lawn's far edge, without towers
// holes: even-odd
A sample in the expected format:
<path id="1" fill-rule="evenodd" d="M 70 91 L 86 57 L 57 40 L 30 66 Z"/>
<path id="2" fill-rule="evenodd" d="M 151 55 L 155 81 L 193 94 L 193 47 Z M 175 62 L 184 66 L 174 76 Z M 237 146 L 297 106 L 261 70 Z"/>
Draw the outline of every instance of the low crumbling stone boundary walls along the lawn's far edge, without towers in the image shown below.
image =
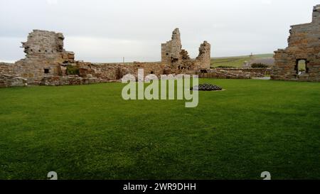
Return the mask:
<path id="1" fill-rule="evenodd" d="M 85 63 L 77 62 L 78 75 L 67 75 L 66 68 L 60 66 L 61 75 L 45 75 L 38 82 L 31 81 L 34 85 L 83 85 L 99 82 L 114 82 L 120 80 L 127 73 L 137 75 L 139 69 L 144 69 L 144 76 L 155 74 L 158 77 L 171 74 L 171 69 L 161 63 Z M 0 87 L 24 86 L 28 82 L 26 77 L 15 75 L 18 65 L 14 63 L 0 63 Z M 169 70 L 169 71 L 168 71 Z M 189 70 L 186 74 L 194 74 L 195 70 Z M 250 79 L 252 77 L 264 77 L 270 74 L 270 68 L 213 68 L 201 70 L 197 74 L 203 78 L 222 79 Z"/>

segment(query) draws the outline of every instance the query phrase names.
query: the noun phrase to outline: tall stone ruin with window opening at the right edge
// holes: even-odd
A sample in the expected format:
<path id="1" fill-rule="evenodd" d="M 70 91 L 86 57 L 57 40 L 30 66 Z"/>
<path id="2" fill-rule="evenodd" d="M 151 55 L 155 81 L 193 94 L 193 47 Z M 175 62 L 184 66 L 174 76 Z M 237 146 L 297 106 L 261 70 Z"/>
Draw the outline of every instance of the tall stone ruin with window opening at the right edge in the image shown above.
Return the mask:
<path id="1" fill-rule="evenodd" d="M 320 81 L 320 5 L 311 23 L 291 26 L 288 47 L 275 51 L 272 80 Z M 301 63 L 302 62 L 302 63 Z M 299 63 L 304 65 L 299 70 Z"/>

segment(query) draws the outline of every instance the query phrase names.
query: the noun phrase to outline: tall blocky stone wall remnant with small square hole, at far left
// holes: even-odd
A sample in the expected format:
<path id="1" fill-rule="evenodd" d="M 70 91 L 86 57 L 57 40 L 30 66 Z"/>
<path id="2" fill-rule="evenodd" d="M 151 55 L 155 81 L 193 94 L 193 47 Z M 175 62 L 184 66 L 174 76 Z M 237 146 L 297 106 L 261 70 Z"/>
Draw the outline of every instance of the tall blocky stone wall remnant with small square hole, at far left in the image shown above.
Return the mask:
<path id="1" fill-rule="evenodd" d="M 62 75 L 61 65 L 74 63 L 74 53 L 63 49 L 63 34 L 33 30 L 22 43 L 26 58 L 15 63 L 15 74 L 38 85 L 43 77 Z"/>

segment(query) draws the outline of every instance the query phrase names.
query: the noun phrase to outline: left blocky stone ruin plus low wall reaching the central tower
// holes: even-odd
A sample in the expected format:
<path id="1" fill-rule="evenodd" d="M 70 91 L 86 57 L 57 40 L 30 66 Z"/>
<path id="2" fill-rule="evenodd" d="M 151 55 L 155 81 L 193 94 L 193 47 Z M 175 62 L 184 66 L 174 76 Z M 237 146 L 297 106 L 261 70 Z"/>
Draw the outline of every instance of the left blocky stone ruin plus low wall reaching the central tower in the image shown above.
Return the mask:
<path id="1" fill-rule="evenodd" d="M 178 33 L 176 37 L 179 37 Z M 38 30 L 29 33 L 28 40 L 22 43 L 26 58 L 16 63 L 0 63 L 0 75 L 6 75 L 2 76 L 2 79 L 7 79 L 6 84 L 3 84 L 2 87 L 10 86 L 10 79 L 16 82 L 16 77 L 25 79 L 29 85 L 75 85 L 117 81 L 127 73 L 137 76 L 139 68 L 144 69 L 145 75 L 159 76 L 171 73 L 170 67 L 164 63 L 75 61 L 74 53 L 63 49 L 63 40 L 62 33 Z M 70 66 L 79 70 L 78 75 L 68 75 L 67 67 Z"/>

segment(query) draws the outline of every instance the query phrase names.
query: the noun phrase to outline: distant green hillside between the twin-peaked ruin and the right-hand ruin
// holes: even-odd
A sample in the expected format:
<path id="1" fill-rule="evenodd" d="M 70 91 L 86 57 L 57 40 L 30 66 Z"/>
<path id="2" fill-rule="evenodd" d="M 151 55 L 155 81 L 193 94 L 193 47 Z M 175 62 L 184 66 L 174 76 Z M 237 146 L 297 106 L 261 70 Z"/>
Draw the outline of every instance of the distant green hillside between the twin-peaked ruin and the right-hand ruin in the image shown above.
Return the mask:
<path id="1" fill-rule="evenodd" d="M 260 55 L 253 55 L 250 57 L 250 55 L 243 55 L 243 56 L 233 56 L 233 57 L 223 57 L 223 58 L 211 58 L 211 68 L 217 68 L 219 66 L 230 66 L 235 68 L 242 68 L 242 65 L 247 62 L 250 63 L 250 60 L 256 61 L 259 63 L 259 61 L 267 61 L 270 65 L 271 60 L 270 58 L 273 57 L 272 53 L 268 54 L 260 54 Z"/>

